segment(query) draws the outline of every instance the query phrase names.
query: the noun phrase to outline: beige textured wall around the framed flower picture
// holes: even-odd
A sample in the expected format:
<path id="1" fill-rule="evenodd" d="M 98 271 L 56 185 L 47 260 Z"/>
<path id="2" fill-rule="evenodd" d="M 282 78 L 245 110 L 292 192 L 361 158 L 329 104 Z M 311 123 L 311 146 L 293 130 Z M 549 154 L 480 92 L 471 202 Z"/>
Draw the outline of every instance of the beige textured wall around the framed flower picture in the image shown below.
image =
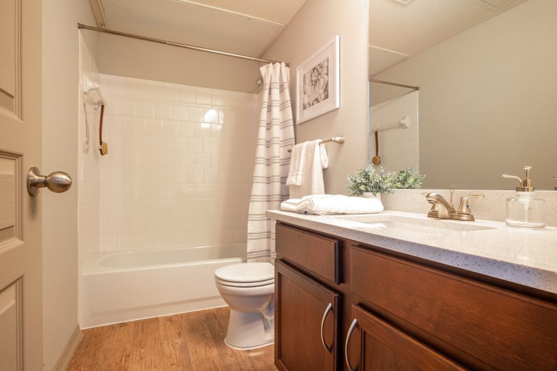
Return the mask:
<path id="1" fill-rule="evenodd" d="M 307 0 L 264 54 L 290 63 L 290 97 L 295 110 L 296 67 L 340 35 L 340 109 L 295 126 L 296 142 L 346 137 L 345 144 L 327 144 L 327 193 L 345 194 L 347 175 L 367 165 L 367 6 L 367 0 Z"/>

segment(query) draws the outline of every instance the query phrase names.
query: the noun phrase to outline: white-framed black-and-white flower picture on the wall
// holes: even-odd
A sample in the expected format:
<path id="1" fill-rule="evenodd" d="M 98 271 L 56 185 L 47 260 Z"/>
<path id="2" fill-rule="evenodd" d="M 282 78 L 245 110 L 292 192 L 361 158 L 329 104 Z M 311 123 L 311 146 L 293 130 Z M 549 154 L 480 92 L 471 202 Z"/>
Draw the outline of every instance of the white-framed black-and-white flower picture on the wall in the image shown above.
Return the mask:
<path id="1" fill-rule="evenodd" d="M 339 45 L 337 35 L 296 69 L 296 123 L 340 107 Z"/>

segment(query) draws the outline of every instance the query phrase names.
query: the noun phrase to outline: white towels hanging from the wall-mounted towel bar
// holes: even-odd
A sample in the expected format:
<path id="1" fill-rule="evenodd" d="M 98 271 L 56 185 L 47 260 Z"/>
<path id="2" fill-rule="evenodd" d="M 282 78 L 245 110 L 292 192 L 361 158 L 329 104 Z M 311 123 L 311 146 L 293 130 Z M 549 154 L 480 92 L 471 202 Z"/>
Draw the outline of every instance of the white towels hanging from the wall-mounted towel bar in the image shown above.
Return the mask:
<path id="1" fill-rule="evenodd" d="M 309 194 L 325 193 L 320 142 L 320 139 L 318 139 L 298 144 L 298 146 L 302 146 L 300 148 L 296 148 L 296 146 L 292 148 L 289 177 L 286 180 L 287 186 L 290 186 L 290 196 L 292 198 L 299 199 L 301 196 Z M 296 150 L 296 155 L 294 155 L 294 150 Z M 327 163 L 328 160 L 325 165 Z M 291 174 L 292 178 L 290 177 Z M 300 183 L 297 182 L 298 175 L 301 175 Z"/>

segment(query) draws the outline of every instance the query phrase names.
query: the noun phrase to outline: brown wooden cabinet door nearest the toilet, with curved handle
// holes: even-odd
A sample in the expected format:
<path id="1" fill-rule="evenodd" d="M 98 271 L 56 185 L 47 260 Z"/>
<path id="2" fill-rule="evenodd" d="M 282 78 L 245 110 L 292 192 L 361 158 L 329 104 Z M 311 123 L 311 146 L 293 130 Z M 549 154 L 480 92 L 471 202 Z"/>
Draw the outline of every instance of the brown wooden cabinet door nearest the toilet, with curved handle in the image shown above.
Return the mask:
<path id="1" fill-rule="evenodd" d="M 340 295 L 275 260 L 275 365 L 337 370 Z"/>

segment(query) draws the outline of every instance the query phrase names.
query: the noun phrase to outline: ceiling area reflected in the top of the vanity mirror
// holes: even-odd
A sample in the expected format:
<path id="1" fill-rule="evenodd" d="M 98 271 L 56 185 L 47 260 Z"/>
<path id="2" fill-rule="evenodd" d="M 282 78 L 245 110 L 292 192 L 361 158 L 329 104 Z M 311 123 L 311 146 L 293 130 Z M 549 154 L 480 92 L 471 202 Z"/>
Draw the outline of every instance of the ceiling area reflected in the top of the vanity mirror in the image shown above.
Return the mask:
<path id="1" fill-rule="evenodd" d="M 527 0 L 369 0 L 369 75 Z"/>

